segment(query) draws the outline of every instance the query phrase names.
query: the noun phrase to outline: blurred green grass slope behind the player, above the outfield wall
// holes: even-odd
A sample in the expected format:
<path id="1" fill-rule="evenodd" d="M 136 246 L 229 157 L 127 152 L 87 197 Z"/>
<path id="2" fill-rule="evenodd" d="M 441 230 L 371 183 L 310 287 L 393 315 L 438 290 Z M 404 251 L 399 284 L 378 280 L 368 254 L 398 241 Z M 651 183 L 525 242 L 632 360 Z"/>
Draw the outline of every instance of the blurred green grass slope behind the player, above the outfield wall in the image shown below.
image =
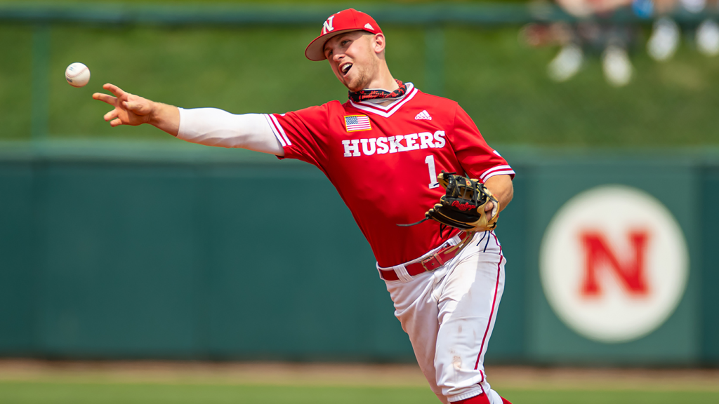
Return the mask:
<path id="1" fill-rule="evenodd" d="M 428 88 L 424 32 L 383 27 L 395 77 Z M 52 28 L 52 138 L 171 138 L 151 127 L 111 129 L 108 106 L 91 94 L 106 82 L 156 101 L 187 108 L 216 106 L 234 113 L 284 112 L 346 99 L 326 63 L 303 57 L 317 27 Z M 590 58 L 572 81 L 553 83 L 545 70 L 556 49 L 529 49 L 518 27 L 446 27 L 444 96 L 466 109 L 490 144 L 533 146 L 698 146 L 719 144 L 719 58 L 686 43 L 668 63 L 643 50 L 633 55 L 636 78 L 626 88 L 603 79 Z M 29 139 L 32 29 L 0 26 L 0 139 Z M 73 62 L 91 68 L 86 88 L 63 72 Z"/>

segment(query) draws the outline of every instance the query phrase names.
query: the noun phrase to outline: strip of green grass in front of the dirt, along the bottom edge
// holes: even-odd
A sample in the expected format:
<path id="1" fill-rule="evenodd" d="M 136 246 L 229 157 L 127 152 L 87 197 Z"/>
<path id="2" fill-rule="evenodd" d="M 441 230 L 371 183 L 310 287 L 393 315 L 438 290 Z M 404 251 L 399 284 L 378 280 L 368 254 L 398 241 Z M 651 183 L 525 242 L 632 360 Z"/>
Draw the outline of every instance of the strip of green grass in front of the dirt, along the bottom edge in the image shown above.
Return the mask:
<path id="1" fill-rule="evenodd" d="M 500 390 L 514 404 L 713 404 L 719 392 L 611 390 Z M 0 382 L 4 404 L 253 403 L 436 404 L 421 387 L 292 387 Z"/>

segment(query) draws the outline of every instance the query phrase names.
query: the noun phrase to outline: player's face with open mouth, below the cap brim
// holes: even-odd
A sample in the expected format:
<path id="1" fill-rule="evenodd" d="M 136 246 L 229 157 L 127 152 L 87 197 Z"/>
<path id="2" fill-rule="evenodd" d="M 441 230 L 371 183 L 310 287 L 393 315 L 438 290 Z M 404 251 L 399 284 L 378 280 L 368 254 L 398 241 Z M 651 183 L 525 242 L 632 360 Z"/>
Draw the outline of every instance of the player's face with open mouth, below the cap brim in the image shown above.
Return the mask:
<path id="1" fill-rule="evenodd" d="M 330 38 L 324 45 L 332 73 L 349 91 L 367 88 L 377 71 L 374 35 L 352 31 Z"/>

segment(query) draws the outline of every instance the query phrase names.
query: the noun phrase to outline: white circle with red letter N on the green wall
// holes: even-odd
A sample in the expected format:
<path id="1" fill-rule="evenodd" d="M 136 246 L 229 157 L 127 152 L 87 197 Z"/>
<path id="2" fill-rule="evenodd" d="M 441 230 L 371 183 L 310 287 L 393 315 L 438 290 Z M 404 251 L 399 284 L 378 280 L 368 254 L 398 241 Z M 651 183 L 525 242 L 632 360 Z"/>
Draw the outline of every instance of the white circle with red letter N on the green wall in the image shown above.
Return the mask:
<path id="1" fill-rule="evenodd" d="M 570 329 L 605 343 L 659 328 L 684 295 L 689 255 L 664 204 L 625 185 L 574 196 L 551 219 L 539 272 L 549 305 Z"/>

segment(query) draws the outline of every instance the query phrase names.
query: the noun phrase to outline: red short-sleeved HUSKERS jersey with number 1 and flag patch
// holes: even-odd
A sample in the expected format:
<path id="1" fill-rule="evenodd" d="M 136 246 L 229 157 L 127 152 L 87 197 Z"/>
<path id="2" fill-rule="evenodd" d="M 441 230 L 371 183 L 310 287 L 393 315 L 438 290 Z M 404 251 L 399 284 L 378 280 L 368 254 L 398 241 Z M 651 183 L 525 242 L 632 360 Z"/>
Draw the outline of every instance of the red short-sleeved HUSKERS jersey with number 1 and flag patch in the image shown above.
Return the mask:
<path id="1" fill-rule="evenodd" d="M 457 234 L 441 237 L 435 221 L 397 226 L 423 219 L 444 195 L 441 170 L 482 182 L 514 175 L 456 102 L 412 83 L 389 106 L 331 101 L 266 117 L 285 157 L 316 165 L 339 191 L 380 267 L 414 260 Z"/>

